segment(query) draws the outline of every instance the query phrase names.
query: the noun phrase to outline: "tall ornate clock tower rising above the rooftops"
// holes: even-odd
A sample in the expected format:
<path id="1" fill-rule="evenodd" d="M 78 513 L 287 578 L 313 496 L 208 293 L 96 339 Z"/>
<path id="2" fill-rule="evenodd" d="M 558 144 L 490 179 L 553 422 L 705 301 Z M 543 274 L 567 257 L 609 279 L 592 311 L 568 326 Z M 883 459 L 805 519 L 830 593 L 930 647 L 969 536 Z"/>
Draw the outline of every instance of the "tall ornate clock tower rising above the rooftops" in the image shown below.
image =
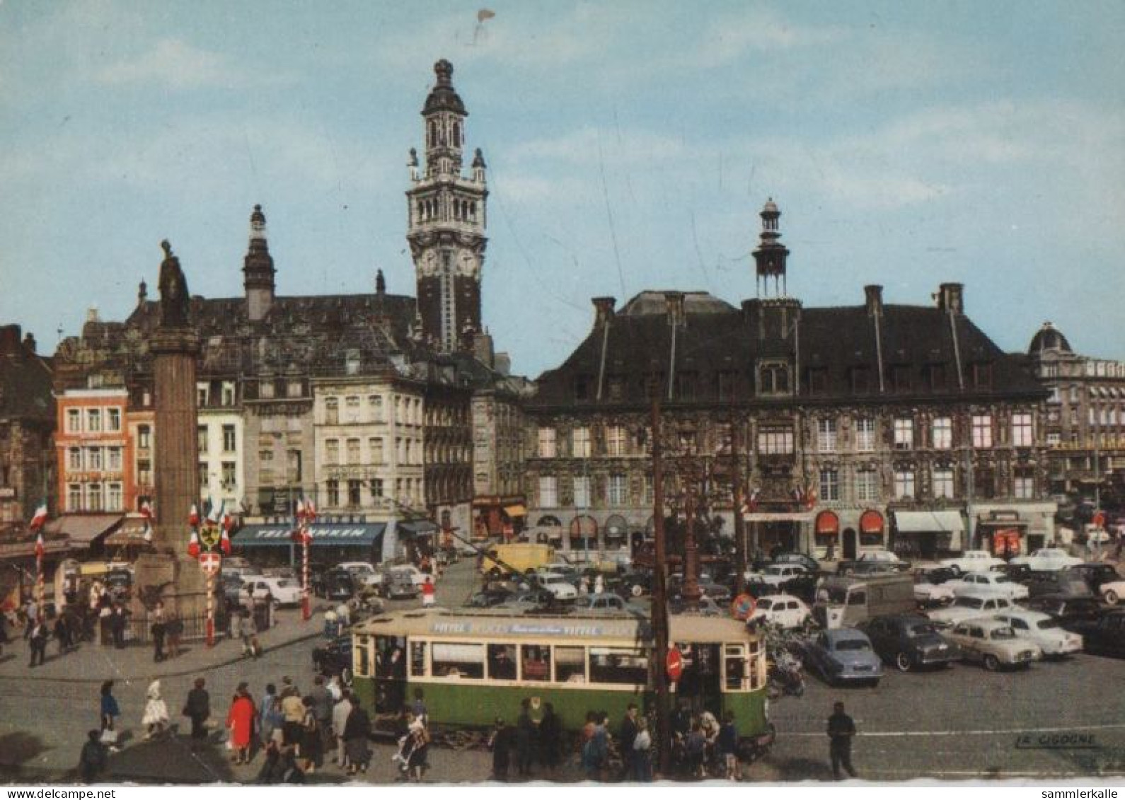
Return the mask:
<path id="1" fill-rule="evenodd" d="M 417 276 L 417 311 L 424 339 L 441 352 L 472 351 L 482 333 L 480 270 L 484 266 L 485 160 L 478 149 L 468 177 L 461 174 L 465 118 L 453 89 L 453 65 L 433 66 L 436 83 L 422 108 L 425 165 L 411 149 L 407 162 L 407 232 Z"/>

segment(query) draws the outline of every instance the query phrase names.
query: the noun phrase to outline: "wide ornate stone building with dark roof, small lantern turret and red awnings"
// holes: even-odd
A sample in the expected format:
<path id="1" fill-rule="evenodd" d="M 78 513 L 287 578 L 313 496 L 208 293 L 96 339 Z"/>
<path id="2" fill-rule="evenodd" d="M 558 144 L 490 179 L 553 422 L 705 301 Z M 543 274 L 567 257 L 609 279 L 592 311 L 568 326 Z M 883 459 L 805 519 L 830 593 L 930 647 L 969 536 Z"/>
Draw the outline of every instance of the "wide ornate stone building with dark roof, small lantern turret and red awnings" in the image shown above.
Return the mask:
<path id="1" fill-rule="evenodd" d="M 531 522 L 572 549 L 651 528 L 649 414 L 662 404 L 668 491 L 687 475 L 732 529 L 732 433 L 750 546 L 826 556 L 892 546 L 961 550 L 994 529 L 1023 548 L 1053 536 L 1042 390 L 964 313 L 935 306 L 807 308 L 785 294 L 780 212 L 762 212 L 758 297 L 645 291 L 594 325 L 526 405 Z"/>

